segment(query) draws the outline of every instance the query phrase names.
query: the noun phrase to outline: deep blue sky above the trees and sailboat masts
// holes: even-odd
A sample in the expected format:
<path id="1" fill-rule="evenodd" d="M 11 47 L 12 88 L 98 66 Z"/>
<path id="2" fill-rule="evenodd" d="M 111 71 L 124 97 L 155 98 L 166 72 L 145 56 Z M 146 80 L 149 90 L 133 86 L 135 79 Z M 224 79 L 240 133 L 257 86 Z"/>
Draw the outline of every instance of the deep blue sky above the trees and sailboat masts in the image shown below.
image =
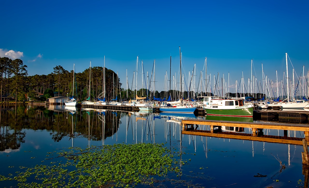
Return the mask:
<path id="1" fill-rule="evenodd" d="M 118 72 L 124 88 L 128 71 L 131 87 L 139 56 L 149 74 L 156 59 L 156 90 L 161 91 L 170 56 L 171 72 L 178 75 L 179 46 L 186 77 L 196 63 L 196 82 L 205 57 L 207 73 L 216 77 L 224 73 L 226 78 L 229 72 L 231 87 L 242 72 L 248 83 L 252 58 L 258 80 L 262 80 L 261 63 L 268 78 L 276 80 L 277 70 L 281 80 L 286 52 L 298 77 L 303 65 L 305 71 L 309 68 L 308 1 L 3 0 L 0 4 L 0 56 L 22 59 L 29 75 L 49 74 L 57 65 L 70 71 L 73 63 L 82 72 L 90 60 L 92 66 L 103 66 L 105 55 L 106 67 Z"/>

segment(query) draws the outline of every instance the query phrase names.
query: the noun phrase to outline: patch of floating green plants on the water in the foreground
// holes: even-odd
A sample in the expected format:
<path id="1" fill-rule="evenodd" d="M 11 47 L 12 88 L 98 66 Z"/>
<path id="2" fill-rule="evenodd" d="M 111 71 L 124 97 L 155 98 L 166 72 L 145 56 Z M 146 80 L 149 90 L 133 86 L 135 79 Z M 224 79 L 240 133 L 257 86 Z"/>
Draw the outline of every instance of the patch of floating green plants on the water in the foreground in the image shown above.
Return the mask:
<path id="1" fill-rule="evenodd" d="M 87 149 L 61 150 L 51 162 L 33 168 L 19 167 L 13 177 L 0 175 L 0 181 L 15 180 L 19 187 L 128 187 L 138 183 L 152 184 L 152 175 L 180 173 L 164 144 L 114 144 Z M 51 158 L 51 159 L 55 159 Z"/>

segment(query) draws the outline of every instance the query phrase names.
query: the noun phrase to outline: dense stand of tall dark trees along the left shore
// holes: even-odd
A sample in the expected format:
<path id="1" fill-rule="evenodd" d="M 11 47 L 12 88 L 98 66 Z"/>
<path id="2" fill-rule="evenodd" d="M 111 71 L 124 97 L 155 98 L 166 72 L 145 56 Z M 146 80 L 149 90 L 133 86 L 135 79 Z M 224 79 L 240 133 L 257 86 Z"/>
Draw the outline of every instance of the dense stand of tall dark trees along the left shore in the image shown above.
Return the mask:
<path id="1" fill-rule="evenodd" d="M 72 96 L 73 76 L 75 79 L 74 87 L 76 88 L 74 89 L 74 97 L 79 101 L 88 98 L 90 84 L 91 98 L 94 99 L 103 92 L 103 69 L 103 67 L 91 67 L 74 74 L 73 70 L 68 71 L 58 65 L 48 75 L 28 76 L 27 65 L 24 65 L 21 59 L 12 60 L 7 57 L 0 57 L 2 75 L 0 101 L 8 102 L 14 99 L 15 102 L 20 102 L 27 98 L 45 101 L 47 98 L 54 97 L 54 92 L 59 92 L 63 96 Z M 105 68 L 106 100 L 111 100 L 113 96 L 121 94 L 123 90 L 121 85 L 117 74 Z M 38 93 L 44 95 L 39 97 Z"/>

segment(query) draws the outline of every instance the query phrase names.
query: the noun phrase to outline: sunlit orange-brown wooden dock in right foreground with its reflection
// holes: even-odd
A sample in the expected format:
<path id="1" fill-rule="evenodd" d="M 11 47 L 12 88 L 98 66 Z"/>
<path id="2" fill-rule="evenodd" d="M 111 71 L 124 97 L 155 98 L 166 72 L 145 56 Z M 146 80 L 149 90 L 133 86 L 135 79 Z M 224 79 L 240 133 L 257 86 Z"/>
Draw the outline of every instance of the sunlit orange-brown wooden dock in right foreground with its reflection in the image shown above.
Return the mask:
<path id="1" fill-rule="evenodd" d="M 303 145 L 303 138 L 287 137 L 288 130 L 303 131 L 306 141 L 309 143 L 309 125 L 308 124 L 286 124 L 276 122 L 241 122 L 241 121 L 218 121 L 218 120 L 182 120 L 182 133 L 194 134 L 201 136 L 210 136 L 217 138 L 232 138 L 242 140 L 253 140 L 261 142 L 276 142 Z M 198 125 L 209 125 L 210 131 L 197 130 Z M 195 127 L 194 127 L 195 126 Z M 252 134 L 246 133 L 222 133 L 221 126 L 251 128 Z M 284 136 L 267 136 L 263 134 L 263 129 L 278 129 L 284 130 Z"/>

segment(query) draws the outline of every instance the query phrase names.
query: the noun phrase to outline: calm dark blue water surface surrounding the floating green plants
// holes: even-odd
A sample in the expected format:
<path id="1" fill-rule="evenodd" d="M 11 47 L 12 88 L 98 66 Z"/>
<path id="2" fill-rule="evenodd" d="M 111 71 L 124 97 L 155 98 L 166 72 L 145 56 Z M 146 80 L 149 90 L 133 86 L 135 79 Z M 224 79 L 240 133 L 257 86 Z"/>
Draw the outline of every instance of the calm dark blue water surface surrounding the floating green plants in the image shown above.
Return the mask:
<path id="1" fill-rule="evenodd" d="M 71 146 L 167 142 L 166 147 L 186 153 L 181 160 L 187 163 L 180 167 L 182 176 L 169 173 L 155 187 L 297 187 L 304 181 L 303 146 L 182 134 L 182 119 L 202 116 L 38 105 L 1 106 L 0 116 L 0 175 L 15 174 L 19 166 L 48 164 L 49 152 Z M 242 133 L 252 131 L 243 129 Z M 267 129 L 264 134 L 283 136 L 284 132 Z M 288 136 L 304 138 L 299 131 L 289 131 Z M 286 169 L 280 171 L 278 159 Z M 254 177 L 258 174 L 266 177 Z M 16 185 L 16 181 L 0 181 L 0 187 Z"/>

